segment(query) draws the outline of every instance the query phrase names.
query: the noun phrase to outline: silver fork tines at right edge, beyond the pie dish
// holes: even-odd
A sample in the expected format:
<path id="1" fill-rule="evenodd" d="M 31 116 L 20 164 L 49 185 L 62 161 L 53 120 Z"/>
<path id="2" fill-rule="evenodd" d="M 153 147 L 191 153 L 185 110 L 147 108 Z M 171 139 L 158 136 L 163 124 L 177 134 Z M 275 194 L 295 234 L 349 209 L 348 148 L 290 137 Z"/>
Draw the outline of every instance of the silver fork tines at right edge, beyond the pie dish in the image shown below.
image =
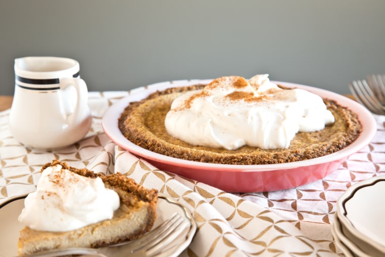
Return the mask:
<path id="1" fill-rule="evenodd" d="M 385 90 L 382 90 L 383 81 L 379 79 L 381 77 L 369 77 L 371 86 L 366 80 L 353 81 L 349 84 L 349 88 L 357 101 L 366 106 L 369 111 L 374 114 L 385 115 L 385 105 L 381 102 L 384 99 L 383 92 Z"/>

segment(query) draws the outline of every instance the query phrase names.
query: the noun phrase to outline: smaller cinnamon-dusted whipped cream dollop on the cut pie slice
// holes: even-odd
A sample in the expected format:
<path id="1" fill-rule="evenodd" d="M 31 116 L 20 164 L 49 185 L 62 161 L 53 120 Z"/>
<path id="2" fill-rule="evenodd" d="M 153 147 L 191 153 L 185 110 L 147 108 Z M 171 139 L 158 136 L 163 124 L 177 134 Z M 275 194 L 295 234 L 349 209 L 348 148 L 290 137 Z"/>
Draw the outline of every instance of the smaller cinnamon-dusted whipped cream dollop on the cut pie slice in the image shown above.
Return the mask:
<path id="1" fill-rule="evenodd" d="M 78 175 L 61 165 L 47 167 L 36 191 L 24 201 L 19 222 L 31 229 L 70 231 L 112 218 L 120 205 L 116 192 L 100 177 Z"/>

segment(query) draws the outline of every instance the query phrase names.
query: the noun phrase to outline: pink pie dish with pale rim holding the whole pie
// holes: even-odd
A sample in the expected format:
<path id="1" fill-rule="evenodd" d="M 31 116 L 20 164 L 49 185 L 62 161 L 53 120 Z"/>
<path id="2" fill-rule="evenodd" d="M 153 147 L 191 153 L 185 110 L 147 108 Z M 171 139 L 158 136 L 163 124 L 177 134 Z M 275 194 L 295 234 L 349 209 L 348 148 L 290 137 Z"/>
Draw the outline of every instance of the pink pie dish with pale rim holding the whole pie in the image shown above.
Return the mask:
<path id="1" fill-rule="evenodd" d="M 277 82 L 286 87 L 308 90 L 323 98 L 335 100 L 357 114 L 362 133 L 346 148 L 333 154 L 311 160 L 264 165 L 230 165 L 181 160 L 153 153 L 132 143 L 124 137 L 118 127 L 118 119 L 125 107 L 149 94 L 170 87 L 208 84 L 212 80 L 183 80 L 162 82 L 130 91 L 130 95 L 111 105 L 102 118 L 106 135 L 123 149 L 147 160 L 155 167 L 195 179 L 226 192 L 262 192 L 295 188 L 321 179 L 335 171 L 350 155 L 362 150 L 374 137 L 376 122 L 372 114 L 361 104 L 342 95 L 310 86 Z"/>

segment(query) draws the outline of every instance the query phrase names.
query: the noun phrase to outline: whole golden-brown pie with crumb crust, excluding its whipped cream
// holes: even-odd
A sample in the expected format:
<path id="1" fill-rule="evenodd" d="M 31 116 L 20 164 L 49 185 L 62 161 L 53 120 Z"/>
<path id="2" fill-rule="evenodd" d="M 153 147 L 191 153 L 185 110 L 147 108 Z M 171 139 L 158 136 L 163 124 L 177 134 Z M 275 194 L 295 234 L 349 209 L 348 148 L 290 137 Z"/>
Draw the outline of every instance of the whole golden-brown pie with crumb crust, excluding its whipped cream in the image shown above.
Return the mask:
<path id="1" fill-rule="evenodd" d="M 131 102 L 119 118 L 120 131 L 141 148 L 161 155 L 197 162 L 251 165 L 288 163 L 325 156 L 348 146 L 362 130 L 355 113 L 333 100 L 323 99 L 335 122 L 316 132 L 297 133 L 288 148 L 264 150 L 244 145 L 236 150 L 226 150 L 191 145 L 169 135 L 164 121 L 176 97 L 204 86 L 169 88 Z"/>

